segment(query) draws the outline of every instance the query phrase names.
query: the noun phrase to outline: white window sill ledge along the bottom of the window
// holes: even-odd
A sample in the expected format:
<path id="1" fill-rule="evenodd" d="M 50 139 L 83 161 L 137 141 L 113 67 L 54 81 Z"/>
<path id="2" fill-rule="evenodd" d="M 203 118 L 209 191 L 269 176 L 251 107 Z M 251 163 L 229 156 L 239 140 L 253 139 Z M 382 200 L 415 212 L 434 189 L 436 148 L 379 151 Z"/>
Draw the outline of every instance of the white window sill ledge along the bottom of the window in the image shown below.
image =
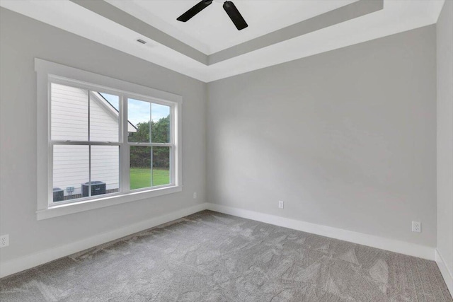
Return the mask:
<path id="1" fill-rule="evenodd" d="M 50 219 L 57 216 L 79 213 L 81 211 L 100 209 L 103 207 L 110 207 L 115 204 L 124 204 L 126 202 L 134 202 L 137 200 L 176 193 L 182 190 L 183 190 L 182 186 L 163 187 L 149 191 L 130 192 L 127 194 L 121 194 L 117 196 L 91 199 L 83 202 L 74 202 L 71 204 L 57 204 L 55 206 L 50 206 L 47 209 L 36 211 L 36 218 L 38 220 Z"/>

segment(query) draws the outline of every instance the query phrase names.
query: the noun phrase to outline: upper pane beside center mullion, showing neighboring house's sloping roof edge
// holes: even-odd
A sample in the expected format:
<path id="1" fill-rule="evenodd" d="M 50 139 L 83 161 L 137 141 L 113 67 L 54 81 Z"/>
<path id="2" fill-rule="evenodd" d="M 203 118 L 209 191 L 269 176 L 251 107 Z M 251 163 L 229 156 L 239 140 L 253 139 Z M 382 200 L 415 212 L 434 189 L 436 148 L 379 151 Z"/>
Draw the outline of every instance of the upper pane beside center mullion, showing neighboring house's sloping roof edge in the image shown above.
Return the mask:
<path id="1" fill-rule="evenodd" d="M 110 103 L 111 102 L 111 103 Z M 120 97 L 107 93 L 90 93 L 90 141 L 118 141 Z"/>

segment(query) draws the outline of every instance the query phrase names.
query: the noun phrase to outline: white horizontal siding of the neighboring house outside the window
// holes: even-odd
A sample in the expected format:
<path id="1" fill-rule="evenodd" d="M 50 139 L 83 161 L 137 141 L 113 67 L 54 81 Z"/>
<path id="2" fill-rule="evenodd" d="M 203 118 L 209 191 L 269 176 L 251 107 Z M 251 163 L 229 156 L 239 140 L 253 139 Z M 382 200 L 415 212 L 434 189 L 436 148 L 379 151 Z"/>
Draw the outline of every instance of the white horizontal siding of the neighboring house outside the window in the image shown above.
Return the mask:
<path id="1" fill-rule="evenodd" d="M 90 98 L 91 141 L 118 141 L 118 117 L 96 93 Z M 52 83 L 52 140 L 88 140 L 88 91 Z M 55 146 L 53 187 L 65 190 L 88 182 L 88 146 Z M 91 147 L 91 180 L 106 183 L 106 189 L 119 187 L 119 147 Z M 68 193 L 66 190 L 64 194 Z"/>

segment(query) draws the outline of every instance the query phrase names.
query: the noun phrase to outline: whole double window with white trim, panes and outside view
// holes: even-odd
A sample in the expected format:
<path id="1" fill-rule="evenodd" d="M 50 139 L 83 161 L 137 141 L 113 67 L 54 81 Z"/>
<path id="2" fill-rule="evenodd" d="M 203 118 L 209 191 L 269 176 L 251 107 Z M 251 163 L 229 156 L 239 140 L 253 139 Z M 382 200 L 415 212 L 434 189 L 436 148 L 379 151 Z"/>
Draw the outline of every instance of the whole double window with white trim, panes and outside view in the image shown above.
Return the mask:
<path id="1" fill-rule="evenodd" d="M 40 59 L 35 69 L 38 219 L 181 190 L 180 96 Z"/>

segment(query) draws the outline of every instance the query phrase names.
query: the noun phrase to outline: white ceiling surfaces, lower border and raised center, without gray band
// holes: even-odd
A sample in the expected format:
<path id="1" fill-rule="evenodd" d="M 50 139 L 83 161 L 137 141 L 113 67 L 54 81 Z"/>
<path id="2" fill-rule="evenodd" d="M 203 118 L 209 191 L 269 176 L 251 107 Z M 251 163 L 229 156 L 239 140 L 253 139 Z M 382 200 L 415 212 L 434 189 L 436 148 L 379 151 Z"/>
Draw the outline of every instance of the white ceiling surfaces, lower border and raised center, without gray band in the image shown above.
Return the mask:
<path id="1" fill-rule="evenodd" d="M 198 62 L 181 52 L 173 50 L 170 47 L 162 45 L 159 42 L 150 40 L 148 37 L 144 38 L 139 33 L 115 23 L 108 18 L 99 16 L 93 11 L 69 0 L 0 0 L 0 6 L 58 28 L 62 28 L 70 33 L 86 37 L 103 45 L 107 45 L 108 47 L 113 47 L 135 57 L 153 62 L 154 64 L 180 72 L 181 74 L 191 76 L 200 81 L 210 82 L 228 76 L 261 69 L 266 66 L 289 62 L 294 59 L 308 57 L 321 52 L 335 50 L 340 47 L 346 47 L 436 23 L 444 1 L 445 0 L 384 0 L 384 9 L 380 11 L 278 42 L 209 66 Z M 243 39 L 249 40 L 253 37 L 263 35 L 263 33 L 268 33 L 269 31 L 302 21 L 302 19 L 296 20 L 297 14 L 290 12 L 295 11 L 295 6 L 306 5 L 303 18 L 309 18 L 310 14 L 320 13 L 326 9 L 333 9 L 334 3 L 342 5 L 347 4 L 348 1 L 234 0 L 234 3 L 241 10 L 241 13 L 243 13 L 243 16 L 246 18 L 249 25 L 249 28 L 241 30 L 241 32 L 238 32 L 236 28 L 234 28 L 226 14 L 223 16 L 223 8 L 218 3 L 213 3 L 202 11 L 200 16 L 196 16 L 193 20 L 190 20 L 193 22 L 188 21 L 188 23 L 179 24 L 176 22 L 176 18 L 187 8 L 193 6 L 194 2 L 196 3 L 197 0 L 127 0 L 122 2 L 118 2 L 118 0 L 109 0 L 109 2 L 115 3 L 117 7 L 125 6 L 127 4 L 128 10 L 140 9 L 139 6 L 135 6 L 135 4 L 140 4 L 143 7 L 147 7 L 147 9 L 153 10 L 152 7 L 154 6 L 154 2 L 160 2 L 161 4 L 164 2 L 173 2 L 173 8 L 171 8 L 170 5 L 167 6 L 165 4 L 166 8 L 164 11 L 158 14 L 162 17 L 160 20 L 157 18 L 155 19 L 154 17 L 152 18 L 152 21 L 144 20 L 144 16 L 137 15 L 137 12 L 130 11 L 130 13 L 132 15 L 136 14 L 136 17 L 142 19 L 142 21 L 147 21 L 149 24 L 152 23 L 152 26 L 164 31 L 168 35 L 172 35 L 178 40 L 181 40 L 200 51 L 202 50 L 202 52 L 205 52 L 206 54 L 210 54 L 210 52 L 215 52 L 224 47 L 229 47 L 229 45 L 235 45 L 245 41 Z M 260 13 L 269 13 L 265 8 L 248 11 L 248 8 L 253 8 L 258 5 L 258 3 L 262 4 L 268 2 L 273 2 L 273 11 L 281 11 L 286 15 L 280 16 L 280 13 L 278 13 L 273 21 L 270 22 L 260 15 Z M 330 2 L 332 2 L 332 4 L 330 4 Z M 309 3 L 314 4 L 314 6 L 308 8 Z M 330 8 L 327 8 L 327 6 Z M 145 8 L 142 9 L 142 13 L 145 16 L 150 16 L 147 11 L 145 11 Z M 223 19 L 220 17 L 215 18 L 214 13 L 219 13 Z M 167 14 L 168 16 L 171 14 L 171 18 L 163 17 L 167 16 Z M 167 20 L 167 18 L 169 19 Z M 197 25 L 197 22 L 202 22 L 201 28 L 198 28 L 200 25 Z M 254 26 L 255 22 L 260 24 L 260 26 Z M 212 25 L 212 23 L 216 23 L 216 25 Z M 196 34 L 186 33 L 185 30 L 189 29 L 185 26 L 190 26 Z M 224 39 L 222 35 L 218 34 L 219 32 L 217 30 L 222 30 L 222 34 L 229 37 L 229 39 Z M 229 30 L 231 30 L 231 33 L 229 33 Z M 238 33 L 240 33 L 240 35 L 238 35 Z M 245 37 L 245 35 L 247 35 L 247 37 Z M 146 45 L 139 44 L 136 40 L 140 37 L 149 42 Z"/>

